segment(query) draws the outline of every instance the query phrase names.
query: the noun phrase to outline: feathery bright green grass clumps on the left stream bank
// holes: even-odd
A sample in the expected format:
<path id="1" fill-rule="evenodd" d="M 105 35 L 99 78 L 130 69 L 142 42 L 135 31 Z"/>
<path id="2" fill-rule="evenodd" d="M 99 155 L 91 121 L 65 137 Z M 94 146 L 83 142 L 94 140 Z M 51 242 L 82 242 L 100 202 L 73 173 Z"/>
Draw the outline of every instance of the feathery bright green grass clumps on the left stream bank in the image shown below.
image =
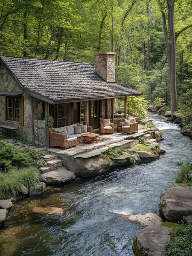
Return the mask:
<path id="1" fill-rule="evenodd" d="M 12 168 L 0 172 L 0 199 L 15 198 L 22 192 L 23 186 L 30 188 L 41 181 L 40 171 L 35 167 Z"/>

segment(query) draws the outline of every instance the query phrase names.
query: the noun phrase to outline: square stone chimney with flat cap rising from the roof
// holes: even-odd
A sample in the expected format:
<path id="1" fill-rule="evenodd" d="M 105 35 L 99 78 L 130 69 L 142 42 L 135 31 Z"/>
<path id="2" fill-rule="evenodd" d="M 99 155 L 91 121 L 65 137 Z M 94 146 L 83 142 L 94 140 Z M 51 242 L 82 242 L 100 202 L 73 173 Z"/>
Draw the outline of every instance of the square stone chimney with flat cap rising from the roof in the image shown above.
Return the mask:
<path id="1" fill-rule="evenodd" d="M 111 52 L 94 53 L 95 73 L 103 78 L 107 83 L 115 82 L 115 54 L 116 53 Z"/>

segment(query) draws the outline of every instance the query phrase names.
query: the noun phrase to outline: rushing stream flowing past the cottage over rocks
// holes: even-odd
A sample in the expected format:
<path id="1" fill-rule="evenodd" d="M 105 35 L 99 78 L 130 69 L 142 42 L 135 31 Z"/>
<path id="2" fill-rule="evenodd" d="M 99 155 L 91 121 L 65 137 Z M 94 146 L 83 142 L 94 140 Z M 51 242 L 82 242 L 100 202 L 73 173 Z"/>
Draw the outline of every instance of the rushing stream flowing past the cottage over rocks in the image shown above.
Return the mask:
<path id="1" fill-rule="evenodd" d="M 122 214 L 160 214 L 160 194 L 174 183 L 176 162 L 192 156 L 192 140 L 176 124 L 156 114 L 149 113 L 149 118 L 163 131 L 165 154 L 15 202 L 0 232 L 0 255 L 134 255 L 132 241 L 142 227 Z M 31 213 L 35 206 L 62 207 L 65 214 L 36 216 Z"/>

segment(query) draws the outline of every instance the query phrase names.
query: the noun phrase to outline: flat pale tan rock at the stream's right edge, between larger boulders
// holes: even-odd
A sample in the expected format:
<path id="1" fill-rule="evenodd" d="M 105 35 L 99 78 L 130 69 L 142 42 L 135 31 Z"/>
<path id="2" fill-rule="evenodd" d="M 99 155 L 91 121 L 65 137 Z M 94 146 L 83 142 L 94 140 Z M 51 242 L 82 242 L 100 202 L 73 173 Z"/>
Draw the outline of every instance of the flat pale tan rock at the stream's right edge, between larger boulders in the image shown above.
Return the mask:
<path id="1" fill-rule="evenodd" d="M 148 212 L 144 215 L 123 215 L 123 218 L 127 218 L 129 221 L 136 221 L 142 226 L 160 225 L 163 220 L 158 215 Z"/>

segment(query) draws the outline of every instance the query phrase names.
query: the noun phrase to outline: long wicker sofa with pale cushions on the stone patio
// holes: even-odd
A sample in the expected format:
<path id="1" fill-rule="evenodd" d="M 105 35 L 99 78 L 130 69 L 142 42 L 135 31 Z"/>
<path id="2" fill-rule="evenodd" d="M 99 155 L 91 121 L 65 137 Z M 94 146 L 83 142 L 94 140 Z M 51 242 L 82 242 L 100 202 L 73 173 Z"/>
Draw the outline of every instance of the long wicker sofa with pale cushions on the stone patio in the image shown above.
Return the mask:
<path id="1" fill-rule="evenodd" d="M 50 148 L 52 147 L 62 147 L 62 148 L 70 148 L 77 146 L 78 142 L 84 141 L 84 135 L 92 133 L 92 126 L 87 126 L 87 132 L 83 132 L 80 134 L 75 134 L 75 130 L 73 126 L 77 126 L 77 124 L 72 124 L 70 126 L 64 126 L 60 128 L 50 129 Z M 69 133 L 70 138 L 67 139 L 65 134 L 58 133 L 65 130 Z"/>

